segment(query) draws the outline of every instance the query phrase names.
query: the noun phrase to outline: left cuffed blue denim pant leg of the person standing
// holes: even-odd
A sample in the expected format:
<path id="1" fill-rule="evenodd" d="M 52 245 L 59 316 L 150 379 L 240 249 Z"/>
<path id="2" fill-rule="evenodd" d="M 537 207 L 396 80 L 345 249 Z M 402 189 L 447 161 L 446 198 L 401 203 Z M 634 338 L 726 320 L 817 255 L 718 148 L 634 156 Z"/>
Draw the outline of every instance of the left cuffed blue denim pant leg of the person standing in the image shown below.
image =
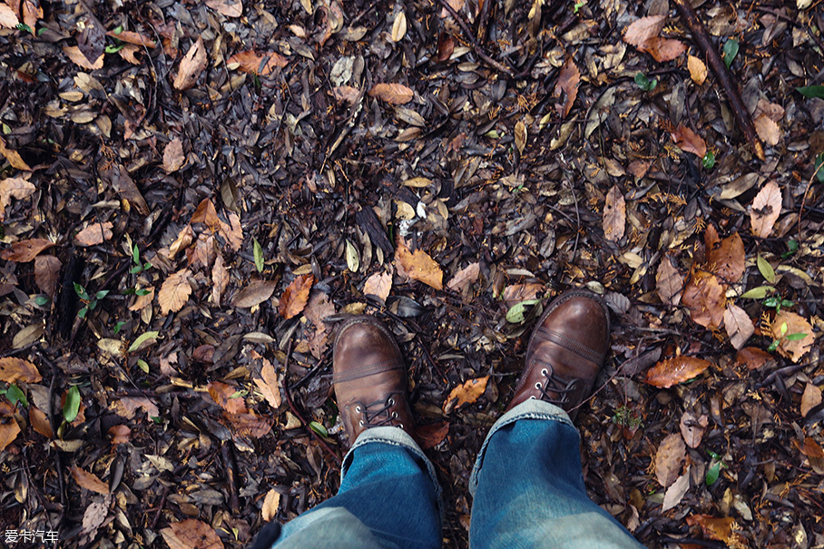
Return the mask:
<path id="1" fill-rule="evenodd" d="M 338 495 L 284 524 L 273 548 L 440 547 L 440 492 L 411 436 L 397 427 L 368 429 L 343 460 Z"/>

